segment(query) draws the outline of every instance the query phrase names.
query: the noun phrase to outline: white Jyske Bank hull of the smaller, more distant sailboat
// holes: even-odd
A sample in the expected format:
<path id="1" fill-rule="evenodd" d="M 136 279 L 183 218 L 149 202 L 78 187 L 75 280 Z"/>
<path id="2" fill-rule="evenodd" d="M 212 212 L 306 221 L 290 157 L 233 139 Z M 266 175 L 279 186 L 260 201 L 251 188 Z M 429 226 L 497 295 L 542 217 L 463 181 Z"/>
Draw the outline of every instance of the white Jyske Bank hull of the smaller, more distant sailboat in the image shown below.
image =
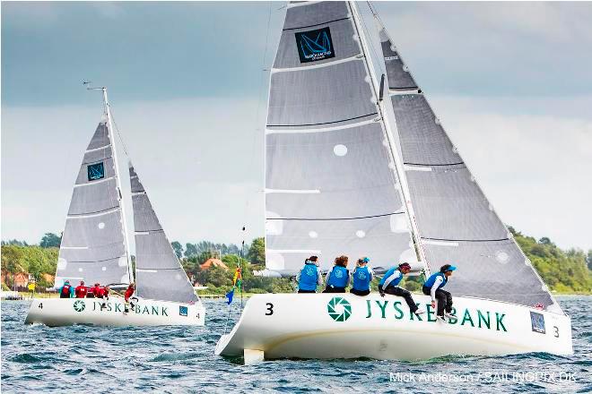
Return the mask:
<path id="1" fill-rule="evenodd" d="M 135 308 L 124 314 L 124 300 L 109 297 L 100 309 L 98 298 L 35 298 L 30 304 L 25 324 L 48 326 L 93 324 L 100 326 L 203 326 L 205 308 L 201 302 L 180 304 L 140 299 Z M 187 314 L 187 315 L 186 315 Z"/>

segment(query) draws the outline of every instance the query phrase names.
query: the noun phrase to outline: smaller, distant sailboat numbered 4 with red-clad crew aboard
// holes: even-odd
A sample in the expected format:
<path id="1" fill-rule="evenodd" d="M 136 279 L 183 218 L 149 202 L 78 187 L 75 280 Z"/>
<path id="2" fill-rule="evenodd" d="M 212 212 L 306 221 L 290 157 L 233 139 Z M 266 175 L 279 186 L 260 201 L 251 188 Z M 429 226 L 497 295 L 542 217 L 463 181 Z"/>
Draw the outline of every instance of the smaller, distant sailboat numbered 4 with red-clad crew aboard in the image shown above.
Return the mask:
<path id="1" fill-rule="evenodd" d="M 87 286 L 98 282 L 111 289 L 126 289 L 134 281 L 134 270 L 107 89 L 89 89 L 102 90 L 104 119 L 92 135 L 76 177 L 54 287 L 61 287 L 65 280 L 76 287 L 84 280 Z M 25 323 L 204 325 L 204 305 L 173 252 L 131 162 L 129 179 L 135 227 L 135 300 L 131 307 L 113 292 L 109 300 L 36 298 Z"/>

